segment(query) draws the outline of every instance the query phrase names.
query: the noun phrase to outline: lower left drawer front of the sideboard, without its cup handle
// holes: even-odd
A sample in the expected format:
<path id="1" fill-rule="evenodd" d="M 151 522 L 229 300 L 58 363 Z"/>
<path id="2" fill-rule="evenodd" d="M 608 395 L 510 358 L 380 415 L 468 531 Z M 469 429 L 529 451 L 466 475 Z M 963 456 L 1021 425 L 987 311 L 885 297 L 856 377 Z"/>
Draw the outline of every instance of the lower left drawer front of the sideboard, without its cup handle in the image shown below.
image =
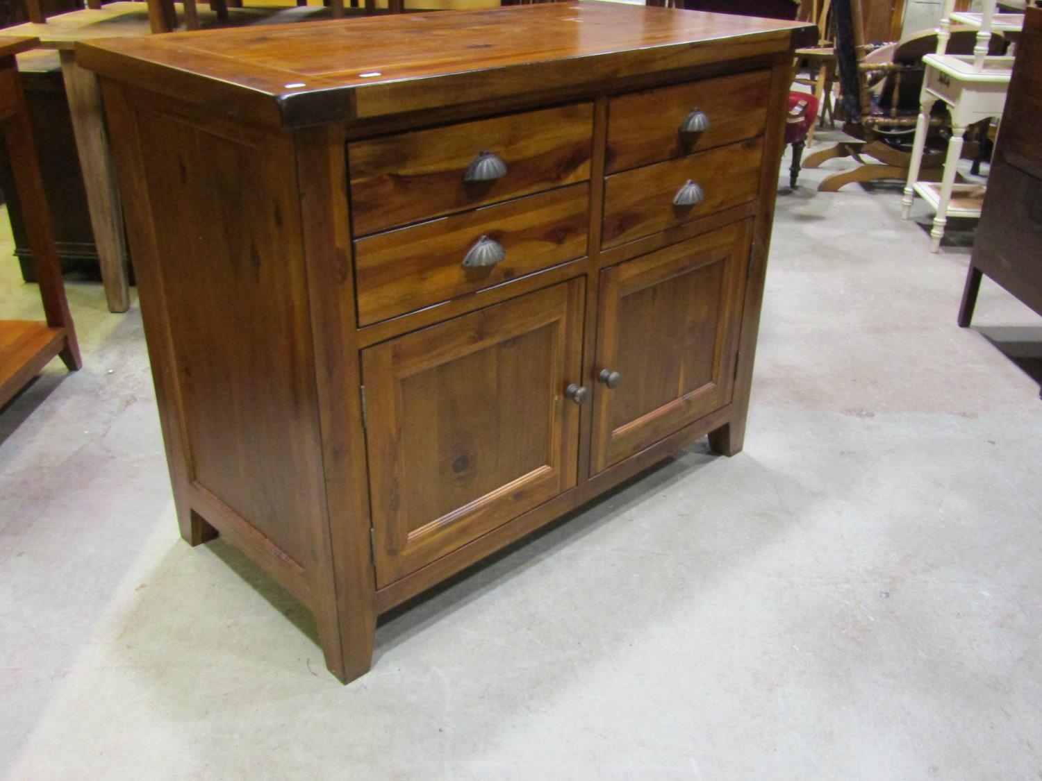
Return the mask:
<path id="1" fill-rule="evenodd" d="M 421 309 L 587 253 L 586 182 L 441 218 L 355 242 L 358 324 Z M 465 268 L 488 236 L 505 251 L 493 267 Z"/>

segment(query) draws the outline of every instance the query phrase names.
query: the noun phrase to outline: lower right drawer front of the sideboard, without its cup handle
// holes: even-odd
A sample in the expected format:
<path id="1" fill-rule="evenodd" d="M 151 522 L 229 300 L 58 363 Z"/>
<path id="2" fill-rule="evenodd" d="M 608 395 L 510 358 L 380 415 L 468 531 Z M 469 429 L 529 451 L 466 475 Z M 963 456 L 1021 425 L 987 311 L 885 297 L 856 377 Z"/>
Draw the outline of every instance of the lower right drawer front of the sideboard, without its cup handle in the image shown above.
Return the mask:
<path id="1" fill-rule="evenodd" d="M 763 146 L 762 138 L 751 138 L 607 177 L 602 246 L 617 247 L 753 200 Z M 675 206 L 688 181 L 698 184 L 702 200 Z"/>

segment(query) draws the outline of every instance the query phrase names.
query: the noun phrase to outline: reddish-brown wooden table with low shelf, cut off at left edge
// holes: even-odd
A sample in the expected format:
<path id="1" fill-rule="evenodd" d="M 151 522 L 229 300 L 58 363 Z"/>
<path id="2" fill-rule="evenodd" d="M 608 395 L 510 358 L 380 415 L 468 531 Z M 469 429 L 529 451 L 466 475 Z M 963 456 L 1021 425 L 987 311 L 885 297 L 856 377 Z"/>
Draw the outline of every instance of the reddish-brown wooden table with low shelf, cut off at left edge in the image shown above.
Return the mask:
<path id="1" fill-rule="evenodd" d="M 81 366 L 15 59 L 16 54 L 34 48 L 38 43 L 33 37 L 0 39 L 0 128 L 18 196 L 25 208 L 26 231 L 46 316 L 46 322 L 0 321 L 0 406 L 10 401 L 54 356 L 60 356 L 70 370 Z"/>

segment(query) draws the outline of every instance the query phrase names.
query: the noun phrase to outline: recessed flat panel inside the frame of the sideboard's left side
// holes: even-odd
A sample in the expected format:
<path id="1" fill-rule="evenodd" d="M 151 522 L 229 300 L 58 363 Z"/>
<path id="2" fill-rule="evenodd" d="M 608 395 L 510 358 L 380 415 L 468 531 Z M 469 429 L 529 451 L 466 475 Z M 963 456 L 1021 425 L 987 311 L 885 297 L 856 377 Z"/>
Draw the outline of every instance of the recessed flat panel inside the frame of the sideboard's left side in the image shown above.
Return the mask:
<path id="1" fill-rule="evenodd" d="M 138 126 L 191 479 L 307 568 L 321 469 L 292 144 L 151 107 Z"/>

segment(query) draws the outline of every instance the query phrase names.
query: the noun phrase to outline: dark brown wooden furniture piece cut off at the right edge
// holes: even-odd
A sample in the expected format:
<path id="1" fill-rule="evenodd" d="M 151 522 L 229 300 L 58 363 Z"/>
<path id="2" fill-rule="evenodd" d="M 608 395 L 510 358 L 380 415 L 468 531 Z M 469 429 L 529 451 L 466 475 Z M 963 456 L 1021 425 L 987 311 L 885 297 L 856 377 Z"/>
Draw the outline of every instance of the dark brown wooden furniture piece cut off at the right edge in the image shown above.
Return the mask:
<path id="1" fill-rule="evenodd" d="M 987 274 L 1042 314 L 1042 8 L 1028 8 L 1017 46 L 988 199 L 981 215 L 959 325 L 973 318 Z"/>

